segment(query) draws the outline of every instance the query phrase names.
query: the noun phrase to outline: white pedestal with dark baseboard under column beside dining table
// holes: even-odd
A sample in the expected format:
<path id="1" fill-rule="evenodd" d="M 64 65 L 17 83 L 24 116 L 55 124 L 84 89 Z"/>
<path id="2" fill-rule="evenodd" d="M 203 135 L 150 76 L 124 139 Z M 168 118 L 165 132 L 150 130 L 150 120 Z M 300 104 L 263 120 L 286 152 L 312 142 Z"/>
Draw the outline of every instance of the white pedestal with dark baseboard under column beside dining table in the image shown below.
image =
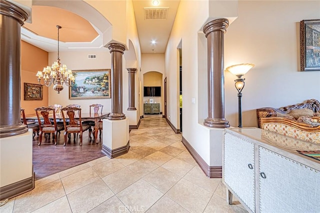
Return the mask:
<path id="1" fill-rule="evenodd" d="M 129 119 L 103 119 L 102 152 L 113 158 L 126 153 L 129 149 Z"/>

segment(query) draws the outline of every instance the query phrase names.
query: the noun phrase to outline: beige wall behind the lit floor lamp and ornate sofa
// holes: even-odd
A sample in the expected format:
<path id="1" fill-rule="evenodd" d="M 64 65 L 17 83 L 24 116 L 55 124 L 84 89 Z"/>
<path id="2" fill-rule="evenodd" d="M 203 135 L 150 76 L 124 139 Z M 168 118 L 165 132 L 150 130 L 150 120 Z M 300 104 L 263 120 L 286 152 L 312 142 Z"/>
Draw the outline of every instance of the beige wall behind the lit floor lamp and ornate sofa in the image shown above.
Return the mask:
<path id="1" fill-rule="evenodd" d="M 257 126 L 256 108 L 320 99 L 320 72 L 299 71 L 299 22 L 319 18 L 320 1 L 239 1 L 225 33 L 224 65 L 254 63 L 245 74 L 242 125 Z M 285 14 L 285 15 L 284 15 Z M 225 73 L 225 115 L 237 126 L 237 91 Z"/>

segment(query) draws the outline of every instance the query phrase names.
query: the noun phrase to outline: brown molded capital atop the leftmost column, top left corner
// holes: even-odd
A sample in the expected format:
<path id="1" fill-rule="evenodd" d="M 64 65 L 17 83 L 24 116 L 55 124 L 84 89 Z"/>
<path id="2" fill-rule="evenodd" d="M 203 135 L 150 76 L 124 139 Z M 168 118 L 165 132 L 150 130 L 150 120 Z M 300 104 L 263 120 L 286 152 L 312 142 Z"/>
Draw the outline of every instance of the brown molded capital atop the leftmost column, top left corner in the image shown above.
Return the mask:
<path id="1" fill-rule="evenodd" d="M 28 14 L 23 9 L 6 0 L 0 0 L 0 14 L 14 18 L 21 26 L 28 19 Z"/>

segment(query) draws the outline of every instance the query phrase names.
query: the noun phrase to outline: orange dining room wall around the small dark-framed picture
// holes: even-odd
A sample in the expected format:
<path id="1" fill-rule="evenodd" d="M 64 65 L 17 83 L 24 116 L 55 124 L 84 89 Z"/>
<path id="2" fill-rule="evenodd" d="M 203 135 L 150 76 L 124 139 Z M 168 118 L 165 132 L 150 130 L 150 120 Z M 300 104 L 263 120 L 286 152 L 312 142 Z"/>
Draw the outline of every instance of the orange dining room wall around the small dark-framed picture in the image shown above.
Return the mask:
<path id="1" fill-rule="evenodd" d="M 48 105 L 48 88 L 43 86 L 42 100 L 24 100 L 24 83 L 38 84 L 35 76 L 38 70 L 42 70 L 48 64 L 48 52 L 21 41 L 21 107 L 25 114 L 33 114 L 37 106 Z"/>

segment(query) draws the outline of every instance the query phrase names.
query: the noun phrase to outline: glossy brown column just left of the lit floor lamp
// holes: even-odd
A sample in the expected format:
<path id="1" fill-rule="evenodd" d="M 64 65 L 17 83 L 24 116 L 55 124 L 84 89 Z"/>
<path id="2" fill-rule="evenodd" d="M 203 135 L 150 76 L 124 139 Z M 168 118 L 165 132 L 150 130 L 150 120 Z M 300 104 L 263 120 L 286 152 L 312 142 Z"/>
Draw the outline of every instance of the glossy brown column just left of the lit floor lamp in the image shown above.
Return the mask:
<path id="1" fill-rule="evenodd" d="M 229 127 L 224 118 L 224 33 L 229 25 L 225 18 L 215 19 L 203 26 L 207 39 L 208 117 L 203 124 L 209 127 Z"/>

